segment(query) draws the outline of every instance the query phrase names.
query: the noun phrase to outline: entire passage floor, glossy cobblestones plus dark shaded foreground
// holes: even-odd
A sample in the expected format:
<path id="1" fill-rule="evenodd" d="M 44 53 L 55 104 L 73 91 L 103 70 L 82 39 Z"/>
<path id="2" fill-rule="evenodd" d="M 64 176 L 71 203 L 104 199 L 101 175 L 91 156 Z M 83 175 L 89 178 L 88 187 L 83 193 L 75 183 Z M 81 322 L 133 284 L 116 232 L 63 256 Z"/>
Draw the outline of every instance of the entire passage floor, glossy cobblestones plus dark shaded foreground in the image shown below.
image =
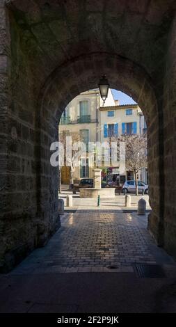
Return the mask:
<path id="1" fill-rule="evenodd" d="M 47 246 L 0 275 L 0 313 L 176 312 L 175 262 L 146 226 L 134 213 L 64 214 Z M 141 278 L 143 262 L 161 264 L 166 277 Z"/>

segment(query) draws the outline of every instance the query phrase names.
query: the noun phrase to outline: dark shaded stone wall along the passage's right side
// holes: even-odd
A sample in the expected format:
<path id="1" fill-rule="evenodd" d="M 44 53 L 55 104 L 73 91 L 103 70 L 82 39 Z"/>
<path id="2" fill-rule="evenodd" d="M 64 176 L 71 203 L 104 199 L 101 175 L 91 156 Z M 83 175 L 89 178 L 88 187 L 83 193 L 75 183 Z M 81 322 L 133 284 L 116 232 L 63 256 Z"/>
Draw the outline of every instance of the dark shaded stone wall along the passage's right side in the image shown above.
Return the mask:
<path id="1" fill-rule="evenodd" d="M 150 199 L 153 199 L 149 230 L 159 246 L 176 257 L 176 189 L 175 189 L 175 128 L 176 128 L 176 21 L 170 26 L 167 51 L 161 58 L 164 74 L 155 85 L 159 108 L 159 146 L 153 145 L 155 163 L 150 169 Z M 155 136 L 154 136 L 155 138 Z M 154 143 L 154 139 L 152 140 Z M 154 163 L 154 161 L 153 161 Z M 157 193 L 157 189 L 159 192 Z M 157 215 L 155 214 L 157 212 Z"/>

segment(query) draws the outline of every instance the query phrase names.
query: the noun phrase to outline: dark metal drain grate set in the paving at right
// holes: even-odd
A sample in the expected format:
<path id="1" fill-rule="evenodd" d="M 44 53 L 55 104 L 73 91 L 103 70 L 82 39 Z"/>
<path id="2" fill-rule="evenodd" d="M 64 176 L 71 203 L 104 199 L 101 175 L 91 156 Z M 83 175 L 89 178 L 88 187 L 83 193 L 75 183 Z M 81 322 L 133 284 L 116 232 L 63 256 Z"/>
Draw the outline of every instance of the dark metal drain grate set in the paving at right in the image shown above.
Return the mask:
<path id="1" fill-rule="evenodd" d="M 140 278 L 166 278 L 166 274 L 159 264 L 136 264 L 135 266 Z"/>

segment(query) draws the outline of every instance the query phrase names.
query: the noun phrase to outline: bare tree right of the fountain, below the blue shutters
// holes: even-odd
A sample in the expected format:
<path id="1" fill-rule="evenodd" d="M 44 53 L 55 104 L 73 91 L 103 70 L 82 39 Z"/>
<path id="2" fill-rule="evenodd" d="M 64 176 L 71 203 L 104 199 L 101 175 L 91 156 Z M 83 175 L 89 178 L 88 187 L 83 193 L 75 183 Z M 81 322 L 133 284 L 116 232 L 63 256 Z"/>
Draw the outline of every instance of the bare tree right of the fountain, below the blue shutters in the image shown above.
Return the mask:
<path id="1" fill-rule="evenodd" d="M 111 141 L 117 141 L 118 154 L 120 141 L 125 142 L 126 168 L 134 172 L 136 184 L 136 196 L 138 196 L 138 172 L 141 168 L 147 168 L 147 137 L 143 135 L 113 136 Z"/>

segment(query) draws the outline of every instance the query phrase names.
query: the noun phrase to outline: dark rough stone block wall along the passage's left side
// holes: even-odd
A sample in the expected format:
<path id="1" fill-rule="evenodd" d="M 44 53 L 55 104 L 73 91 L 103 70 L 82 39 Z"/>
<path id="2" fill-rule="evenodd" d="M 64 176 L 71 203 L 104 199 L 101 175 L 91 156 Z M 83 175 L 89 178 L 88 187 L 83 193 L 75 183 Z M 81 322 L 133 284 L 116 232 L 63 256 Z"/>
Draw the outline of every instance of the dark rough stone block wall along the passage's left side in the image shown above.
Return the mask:
<path id="1" fill-rule="evenodd" d="M 1 1 L 1 261 L 8 271 L 46 243 L 59 217 L 41 212 L 40 74 L 35 52 Z M 45 79 L 45 73 L 42 75 Z M 42 166 L 45 170 L 45 167 Z M 49 180 L 52 180 L 49 176 Z M 47 182 L 46 182 L 47 185 Z M 52 189 L 52 188 L 51 188 Z M 47 203 L 45 197 L 45 202 Z M 51 200 L 52 201 L 52 200 Z M 52 202 L 54 203 L 54 202 Z M 56 212 L 56 209 L 55 209 Z M 57 221 L 57 222 L 56 222 Z"/>

